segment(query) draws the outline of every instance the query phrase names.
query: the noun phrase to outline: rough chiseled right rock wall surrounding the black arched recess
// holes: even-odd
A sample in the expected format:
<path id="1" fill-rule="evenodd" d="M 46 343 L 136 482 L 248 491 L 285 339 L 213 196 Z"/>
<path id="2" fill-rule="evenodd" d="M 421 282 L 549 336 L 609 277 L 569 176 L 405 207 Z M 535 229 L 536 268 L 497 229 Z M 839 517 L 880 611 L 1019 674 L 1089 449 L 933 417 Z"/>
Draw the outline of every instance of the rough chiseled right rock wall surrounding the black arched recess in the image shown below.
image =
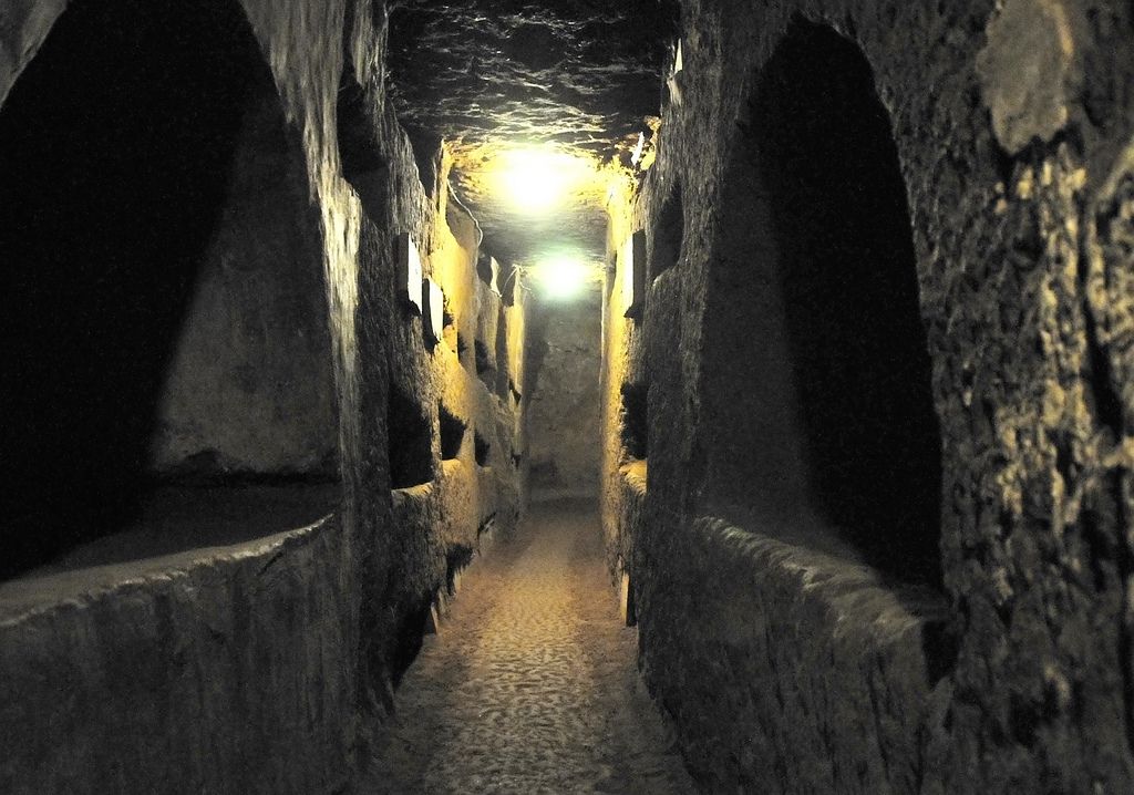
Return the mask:
<path id="1" fill-rule="evenodd" d="M 767 234 L 778 208 L 764 188 L 782 188 L 769 174 L 784 166 L 760 163 L 767 127 L 750 109 L 768 81 L 794 85 L 764 68 L 784 62 L 779 44 L 816 29 L 812 41 L 835 34 L 869 64 L 904 183 L 941 448 L 939 575 L 926 558 L 920 578 L 943 615 L 900 595 L 899 567 L 868 576 L 877 549 L 793 513 L 811 499 L 798 485 L 810 464 L 789 455 L 798 414 L 768 399 L 769 381 L 790 389 L 799 372 L 784 366 L 793 350 L 776 353 L 784 240 Z M 1132 9 L 689 0 L 680 39 L 657 161 L 611 231 L 603 519 L 611 563 L 635 584 L 649 684 L 688 763 L 710 788 L 768 793 L 1129 792 Z M 846 134 L 827 129 L 836 143 Z M 651 250 L 644 316 L 624 319 L 624 240 L 655 238 L 675 189 L 676 264 L 659 274 Z M 746 196 L 754 210 L 737 208 Z M 712 336 L 722 312 L 741 313 L 713 297 L 727 268 L 760 312 Z M 714 379 L 748 366 L 735 352 L 750 336 L 767 344 L 763 369 L 750 395 L 723 397 L 767 422 L 752 460 L 776 467 L 721 457 L 728 429 L 712 424 Z M 621 388 L 640 383 L 641 519 L 623 508 L 633 456 L 619 409 Z M 713 477 L 745 466 L 761 510 L 734 511 L 728 530 L 699 519 L 730 509 Z M 798 499 L 765 505 L 777 479 Z M 816 547 L 841 574 L 815 580 Z M 840 584 L 848 570 L 853 587 Z"/>

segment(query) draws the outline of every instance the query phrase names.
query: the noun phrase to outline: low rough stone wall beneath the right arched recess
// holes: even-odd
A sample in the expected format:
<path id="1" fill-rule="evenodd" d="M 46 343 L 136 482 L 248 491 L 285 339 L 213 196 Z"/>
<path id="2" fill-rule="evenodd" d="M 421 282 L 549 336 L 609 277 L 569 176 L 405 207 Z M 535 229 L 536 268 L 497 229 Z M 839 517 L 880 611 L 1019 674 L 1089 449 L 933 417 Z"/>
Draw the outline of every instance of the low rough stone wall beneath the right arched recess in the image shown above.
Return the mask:
<path id="1" fill-rule="evenodd" d="M 700 518 L 640 614 L 646 680 L 710 792 L 912 793 L 945 604 Z"/>

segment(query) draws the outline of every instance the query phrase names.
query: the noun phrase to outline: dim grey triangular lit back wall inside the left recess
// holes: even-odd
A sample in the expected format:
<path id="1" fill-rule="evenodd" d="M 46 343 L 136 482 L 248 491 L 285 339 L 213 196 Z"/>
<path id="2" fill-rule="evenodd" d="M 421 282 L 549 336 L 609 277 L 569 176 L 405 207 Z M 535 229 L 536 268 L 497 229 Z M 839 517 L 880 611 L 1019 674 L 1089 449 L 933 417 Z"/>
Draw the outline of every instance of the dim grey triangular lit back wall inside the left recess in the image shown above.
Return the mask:
<path id="1" fill-rule="evenodd" d="M 164 375 L 152 466 L 167 479 L 338 476 L 319 215 L 270 74 L 253 91 Z"/>

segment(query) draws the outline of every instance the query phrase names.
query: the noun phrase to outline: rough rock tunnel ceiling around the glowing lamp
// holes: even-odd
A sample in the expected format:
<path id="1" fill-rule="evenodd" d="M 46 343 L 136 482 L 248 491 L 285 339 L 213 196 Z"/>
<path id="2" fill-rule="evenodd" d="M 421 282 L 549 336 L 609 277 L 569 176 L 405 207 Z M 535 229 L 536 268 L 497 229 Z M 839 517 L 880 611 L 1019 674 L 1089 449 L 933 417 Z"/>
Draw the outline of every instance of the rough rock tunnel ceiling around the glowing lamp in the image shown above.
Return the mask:
<path id="1" fill-rule="evenodd" d="M 498 257 L 534 262 L 574 248 L 604 254 L 606 187 L 575 185 L 559 212 L 509 205 L 488 177 L 517 146 L 552 145 L 628 164 L 650 137 L 661 70 L 676 35 L 668 0 L 403 0 L 390 6 L 391 95 L 420 141 L 445 138 L 452 184 Z"/>

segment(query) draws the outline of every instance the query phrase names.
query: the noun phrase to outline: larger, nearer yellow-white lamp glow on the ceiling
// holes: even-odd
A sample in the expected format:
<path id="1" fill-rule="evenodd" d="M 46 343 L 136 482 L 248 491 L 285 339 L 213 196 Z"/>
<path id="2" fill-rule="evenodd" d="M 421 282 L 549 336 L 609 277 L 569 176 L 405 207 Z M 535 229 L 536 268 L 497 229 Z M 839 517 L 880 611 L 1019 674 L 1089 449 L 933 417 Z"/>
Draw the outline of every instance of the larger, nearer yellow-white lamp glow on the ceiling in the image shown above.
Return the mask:
<path id="1" fill-rule="evenodd" d="M 592 160 L 551 147 L 506 150 L 489 169 L 496 192 L 533 215 L 568 204 L 596 176 Z"/>

